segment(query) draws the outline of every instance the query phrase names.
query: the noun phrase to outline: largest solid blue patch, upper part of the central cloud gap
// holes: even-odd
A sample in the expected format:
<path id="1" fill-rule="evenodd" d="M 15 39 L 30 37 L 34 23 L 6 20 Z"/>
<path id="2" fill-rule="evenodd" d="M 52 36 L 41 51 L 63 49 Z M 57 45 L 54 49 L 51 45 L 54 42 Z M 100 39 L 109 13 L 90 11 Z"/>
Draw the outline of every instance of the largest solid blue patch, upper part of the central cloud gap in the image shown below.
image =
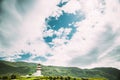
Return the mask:
<path id="1" fill-rule="evenodd" d="M 62 15 L 59 17 L 49 16 L 45 19 L 47 23 L 47 30 L 52 29 L 58 31 L 61 27 L 69 28 L 69 24 L 73 24 L 85 19 L 85 16 L 80 12 L 76 11 L 75 14 L 73 13 L 65 13 L 62 11 Z"/>

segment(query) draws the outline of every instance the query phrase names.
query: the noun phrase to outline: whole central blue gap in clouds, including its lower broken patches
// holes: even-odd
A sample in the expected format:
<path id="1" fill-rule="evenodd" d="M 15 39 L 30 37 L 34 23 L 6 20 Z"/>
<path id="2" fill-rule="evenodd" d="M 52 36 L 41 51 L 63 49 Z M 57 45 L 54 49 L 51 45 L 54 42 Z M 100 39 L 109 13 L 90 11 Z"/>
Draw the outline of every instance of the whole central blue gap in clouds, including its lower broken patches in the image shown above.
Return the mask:
<path id="1" fill-rule="evenodd" d="M 75 14 L 73 13 L 66 13 L 62 11 L 62 15 L 59 17 L 56 16 L 49 16 L 45 19 L 46 21 L 46 30 L 44 30 L 44 33 L 46 33 L 49 30 L 53 30 L 58 32 L 61 28 L 63 29 L 71 29 L 71 32 L 66 35 L 66 40 L 70 40 L 74 33 L 77 31 L 77 26 L 75 26 L 76 22 L 82 21 L 85 19 L 85 15 L 81 11 L 76 11 Z M 54 44 L 51 44 L 53 39 L 60 38 L 62 39 L 65 35 L 64 31 L 61 32 L 61 36 L 58 36 L 56 33 L 53 33 L 52 36 L 45 36 L 43 39 L 45 42 L 51 47 L 54 46 Z"/>

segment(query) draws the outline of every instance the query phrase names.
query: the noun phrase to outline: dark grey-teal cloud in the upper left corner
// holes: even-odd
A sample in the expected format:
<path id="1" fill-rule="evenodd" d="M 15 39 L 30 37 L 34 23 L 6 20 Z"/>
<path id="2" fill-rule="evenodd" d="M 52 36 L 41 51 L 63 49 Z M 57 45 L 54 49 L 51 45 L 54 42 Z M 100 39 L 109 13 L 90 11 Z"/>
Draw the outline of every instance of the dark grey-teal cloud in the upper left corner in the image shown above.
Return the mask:
<path id="1" fill-rule="evenodd" d="M 28 12 L 35 0 L 0 0 L 0 48 L 10 47 L 19 39 L 23 14 Z"/>

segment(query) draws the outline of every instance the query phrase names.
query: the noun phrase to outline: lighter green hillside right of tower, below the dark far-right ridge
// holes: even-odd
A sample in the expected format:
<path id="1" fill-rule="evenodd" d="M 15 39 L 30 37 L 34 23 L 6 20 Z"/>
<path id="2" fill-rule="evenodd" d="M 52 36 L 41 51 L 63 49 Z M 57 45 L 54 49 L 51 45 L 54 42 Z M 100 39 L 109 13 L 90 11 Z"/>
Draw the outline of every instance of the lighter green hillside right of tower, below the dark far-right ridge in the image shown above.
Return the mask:
<path id="1" fill-rule="evenodd" d="M 46 76 L 72 76 L 72 77 L 85 77 L 85 78 L 108 78 L 109 80 L 119 80 L 116 75 L 111 75 L 102 70 L 94 69 L 79 69 L 77 67 L 43 67 L 43 75 Z"/>

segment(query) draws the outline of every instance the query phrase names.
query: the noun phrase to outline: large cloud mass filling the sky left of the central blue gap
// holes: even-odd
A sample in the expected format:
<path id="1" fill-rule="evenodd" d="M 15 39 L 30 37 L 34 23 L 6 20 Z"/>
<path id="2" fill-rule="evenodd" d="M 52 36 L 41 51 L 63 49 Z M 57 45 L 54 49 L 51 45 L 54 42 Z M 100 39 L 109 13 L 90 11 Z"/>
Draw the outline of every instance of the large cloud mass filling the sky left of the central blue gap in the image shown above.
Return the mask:
<path id="1" fill-rule="evenodd" d="M 56 10 L 57 3 L 39 0 L 1 1 L 1 57 L 19 55 L 21 50 L 35 55 L 47 53 L 49 49 L 42 39 L 42 30 L 45 18 Z"/>

